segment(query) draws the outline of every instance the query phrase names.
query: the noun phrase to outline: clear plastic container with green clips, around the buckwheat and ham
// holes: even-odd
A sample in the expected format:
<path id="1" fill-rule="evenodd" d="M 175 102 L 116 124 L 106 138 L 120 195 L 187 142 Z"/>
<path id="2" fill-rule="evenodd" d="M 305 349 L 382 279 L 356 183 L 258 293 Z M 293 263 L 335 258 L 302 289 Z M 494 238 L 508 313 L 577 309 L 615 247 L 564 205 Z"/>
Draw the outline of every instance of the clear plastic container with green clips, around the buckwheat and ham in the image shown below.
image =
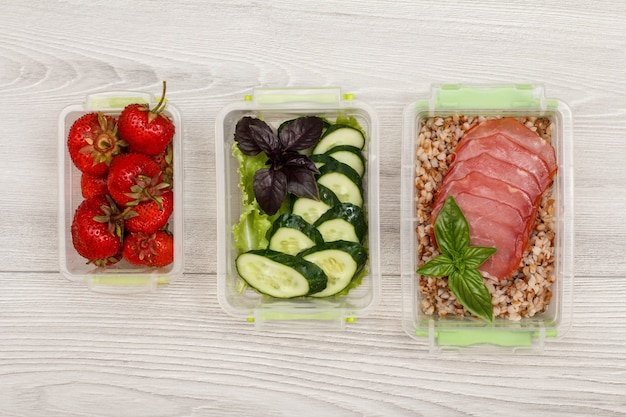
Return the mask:
<path id="1" fill-rule="evenodd" d="M 421 182 L 418 138 L 429 118 L 452 116 L 513 116 L 548 118 L 558 164 L 554 179 L 554 274 L 552 298 L 545 311 L 532 317 L 494 318 L 489 324 L 468 316 L 426 314 L 430 305 L 420 289 L 416 200 Z M 534 120 L 534 119 L 533 119 Z M 441 122 L 440 122 L 441 123 Z M 533 85 L 435 85 L 430 97 L 410 103 L 404 111 L 401 189 L 401 259 L 403 327 L 427 344 L 431 353 L 537 353 L 550 338 L 570 326 L 573 291 L 573 157 L 572 117 L 562 102 L 547 99 Z M 427 288 L 427 287 L 425 287 Z M 424 290 L 428 291 L 428 290 Z M 429 311 L 429 313 L 432 313 Z M 515 315 L 515 314 L 513 314 Z"/>

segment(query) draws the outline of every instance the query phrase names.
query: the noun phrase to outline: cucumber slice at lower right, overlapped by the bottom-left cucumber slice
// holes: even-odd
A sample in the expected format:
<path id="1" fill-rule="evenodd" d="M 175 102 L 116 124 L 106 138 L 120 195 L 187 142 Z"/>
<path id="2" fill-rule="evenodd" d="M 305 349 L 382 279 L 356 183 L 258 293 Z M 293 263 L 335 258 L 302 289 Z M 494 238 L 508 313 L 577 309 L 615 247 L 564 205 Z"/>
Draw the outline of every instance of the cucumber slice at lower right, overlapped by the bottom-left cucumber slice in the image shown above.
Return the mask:
<path id="1" fill-rule="evenodd" d="M 354 242 L 323 243 L 306 250 L 300 256 L 319 266 L 326 276 L 326 288 L 313 297 L 328 297 L 343 291 L 356 278 L 367 262 L 367 251 Z"/>

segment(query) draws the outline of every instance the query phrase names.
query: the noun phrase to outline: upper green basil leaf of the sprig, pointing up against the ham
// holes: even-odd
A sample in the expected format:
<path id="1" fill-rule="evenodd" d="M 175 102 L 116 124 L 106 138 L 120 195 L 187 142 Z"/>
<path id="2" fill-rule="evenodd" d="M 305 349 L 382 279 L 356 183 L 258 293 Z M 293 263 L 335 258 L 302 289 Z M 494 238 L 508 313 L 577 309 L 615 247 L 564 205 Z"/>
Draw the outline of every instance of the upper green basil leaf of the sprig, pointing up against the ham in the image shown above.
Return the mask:
<path id="1" fill-rule="evenodd" d="M 470 246 L 469 225 L 456 204 L 454 197 L 449 196 L 435 220 L 435 238 L 442 253 L 452 259 L 458 259 Z"/>

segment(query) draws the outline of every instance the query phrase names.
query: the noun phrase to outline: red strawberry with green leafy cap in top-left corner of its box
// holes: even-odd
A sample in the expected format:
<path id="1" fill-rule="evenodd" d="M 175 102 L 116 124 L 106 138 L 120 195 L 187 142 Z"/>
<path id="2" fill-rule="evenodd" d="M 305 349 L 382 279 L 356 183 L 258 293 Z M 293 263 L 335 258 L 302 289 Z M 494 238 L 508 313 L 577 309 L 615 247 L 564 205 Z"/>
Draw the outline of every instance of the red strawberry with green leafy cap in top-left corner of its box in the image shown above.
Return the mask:
<path id="1" fill-rule="evenodd" d="M 106 176 L 113 157 L 126 143 L 118 138 L 117 120 L 111 116 L 87 113 L 76 120 L 67 139 L 67 149 L 76 168 L 99 177 Z"/>

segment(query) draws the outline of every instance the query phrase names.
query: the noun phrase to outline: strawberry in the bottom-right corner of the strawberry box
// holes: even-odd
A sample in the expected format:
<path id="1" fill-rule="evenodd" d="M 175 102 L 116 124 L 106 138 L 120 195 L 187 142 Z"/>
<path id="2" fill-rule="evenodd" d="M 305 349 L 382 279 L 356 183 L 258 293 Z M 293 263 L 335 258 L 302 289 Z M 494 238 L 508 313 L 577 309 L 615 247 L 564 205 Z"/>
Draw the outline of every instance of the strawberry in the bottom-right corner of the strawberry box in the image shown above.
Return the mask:
<path id="1" fill-rule="evenodd" d="M 164 230 L 130 233 L 124 239 L 122 253 L 133 265 L 166 266 L 174 261 L 174 238 Z"/>

